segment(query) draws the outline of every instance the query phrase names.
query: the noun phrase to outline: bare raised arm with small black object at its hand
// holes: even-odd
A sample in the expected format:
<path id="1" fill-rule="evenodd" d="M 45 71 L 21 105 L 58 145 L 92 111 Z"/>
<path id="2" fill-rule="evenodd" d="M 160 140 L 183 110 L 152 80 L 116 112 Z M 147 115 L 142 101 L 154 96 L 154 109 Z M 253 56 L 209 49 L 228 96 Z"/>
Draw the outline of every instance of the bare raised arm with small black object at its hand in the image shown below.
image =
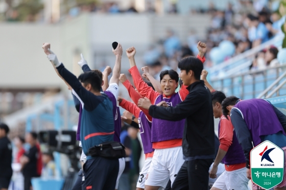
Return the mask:
<path id="1" fill-rule="evenodd" d="M 113 67 L 112 76 L 110 78 L 110 84 L 116 83 L 119 84 L 119 75 L 121 73 L 121 59 L 122 59 L 122 46 L 118 43 L 116 49 L 113 49 L 112 52 L 115 55 L 115 65 Z"/>

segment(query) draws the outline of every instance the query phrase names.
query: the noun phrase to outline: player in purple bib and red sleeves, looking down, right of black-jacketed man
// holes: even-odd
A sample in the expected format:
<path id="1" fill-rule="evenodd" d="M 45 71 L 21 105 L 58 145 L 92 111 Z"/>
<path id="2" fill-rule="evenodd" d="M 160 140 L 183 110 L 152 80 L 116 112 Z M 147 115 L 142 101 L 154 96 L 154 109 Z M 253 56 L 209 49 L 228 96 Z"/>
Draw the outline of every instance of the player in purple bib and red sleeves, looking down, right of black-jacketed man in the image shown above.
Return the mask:
<path id="1" fill-rule="evenodd" d="M 249 179 L 246 173 L 246 161 L 244 152 L 237 141 L 235 130 L 230 117 L 224 116 L 221 103 L 226 98 L 221 91 L 214 91 L 212 95 L 212 108 L 214 118 L 220 118 L 219 140 L 220 148 L 214 160 L 209 176 L 216 178 L 218 165 L 222 161 L 225 164 L 225 172 L 214 182 L 211 190 L 241 189 L 248 190 Z"/>

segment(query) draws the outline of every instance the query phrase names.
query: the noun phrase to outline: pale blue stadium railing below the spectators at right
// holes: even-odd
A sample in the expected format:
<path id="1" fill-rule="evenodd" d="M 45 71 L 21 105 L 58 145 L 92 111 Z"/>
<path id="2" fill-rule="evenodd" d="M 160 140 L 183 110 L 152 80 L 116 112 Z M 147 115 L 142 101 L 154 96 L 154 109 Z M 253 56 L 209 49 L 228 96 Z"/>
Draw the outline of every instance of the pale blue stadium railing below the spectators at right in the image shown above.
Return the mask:
<path id="1" fill-rule="evenodd" d="M 285 64 L 263 70 L 233 73 L 228 77 L 211 80 L 214 89 L 224 91 L 227 96 L 233 95 L 241 99 L 286 95 L 285 83 Z M 273 92 L 270 92 L 271 90 Z M 268 92 L 269 94 L 267 94 Z"/>

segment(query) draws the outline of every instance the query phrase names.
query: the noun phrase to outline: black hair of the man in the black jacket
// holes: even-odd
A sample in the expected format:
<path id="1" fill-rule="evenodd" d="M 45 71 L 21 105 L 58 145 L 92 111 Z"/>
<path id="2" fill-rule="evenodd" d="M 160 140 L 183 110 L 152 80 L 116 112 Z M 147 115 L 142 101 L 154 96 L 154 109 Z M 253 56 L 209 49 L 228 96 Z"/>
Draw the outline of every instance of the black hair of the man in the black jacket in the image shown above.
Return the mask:
<path id="1" fill-rule="evenodd" d="M 192 70 L 197 80 L 200 80 L 202 70 L 204 69 L 203 63 L 193 56 L 182 59 L 179 62 L 178 67 L 180 70 L 185 70 L 186 73 Z"/>

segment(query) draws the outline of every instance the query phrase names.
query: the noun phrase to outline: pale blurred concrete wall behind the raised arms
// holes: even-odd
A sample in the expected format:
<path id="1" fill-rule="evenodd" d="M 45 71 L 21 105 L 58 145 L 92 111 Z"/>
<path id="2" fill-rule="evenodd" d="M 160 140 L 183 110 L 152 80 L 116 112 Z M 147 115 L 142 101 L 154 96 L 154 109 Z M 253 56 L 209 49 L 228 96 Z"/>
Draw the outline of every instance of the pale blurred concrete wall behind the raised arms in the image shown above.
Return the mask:
<path id="1" fill-rule="evenodd" d="M 194 26 L 204 37 L 209 20 L 205 15 L 82 14 L 55 25 L 0 23 L 0 88 L 65 87 L 42 51 L 44 42 L 51 43 L 59 61 L 76 75 L 81 73 L 77 64 L 80 53 L 91 68 L 101 68 L 103 62 L 113 67 L 111 44 L 120 42 L 124 49 L 122 70 L 126 72 L 128 47 L 136 47 L 136 62 L 143 66 L 144 52 L 165 38 L 167 28 L 173 28 L 183 42 Z"/>

